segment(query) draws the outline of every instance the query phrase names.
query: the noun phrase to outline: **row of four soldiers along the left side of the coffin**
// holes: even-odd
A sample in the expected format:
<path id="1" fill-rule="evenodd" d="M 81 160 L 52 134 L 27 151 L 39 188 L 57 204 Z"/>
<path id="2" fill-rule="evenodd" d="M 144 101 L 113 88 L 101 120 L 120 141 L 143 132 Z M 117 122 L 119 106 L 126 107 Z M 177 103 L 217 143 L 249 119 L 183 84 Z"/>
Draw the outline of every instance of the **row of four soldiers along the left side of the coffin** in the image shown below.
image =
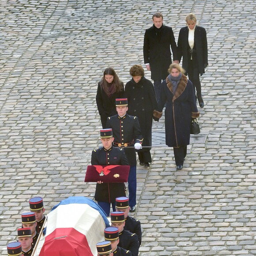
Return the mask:
<path id="1" fill-rule="evenodd" d="M 29 200 L 30 212 L 21 215 L 22 228 L 17 230 L 18 241 L 7 246 L 8 256 L 30 256 L 45 222 L 45 208 L 41 197 Z"/>

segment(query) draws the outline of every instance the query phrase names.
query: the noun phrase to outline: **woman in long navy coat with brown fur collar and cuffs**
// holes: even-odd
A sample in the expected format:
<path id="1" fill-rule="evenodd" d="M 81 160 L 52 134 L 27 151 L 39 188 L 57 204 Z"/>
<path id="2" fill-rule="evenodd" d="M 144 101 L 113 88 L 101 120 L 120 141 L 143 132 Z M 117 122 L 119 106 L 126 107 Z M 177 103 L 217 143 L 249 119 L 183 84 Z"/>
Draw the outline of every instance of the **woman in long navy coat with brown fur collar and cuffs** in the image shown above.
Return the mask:
<path id="1" fill-rule="evenodd" d="M 168 72 L 168 77 L 161 85 L 158 111 L 154 111 L 154 117 L 162 117 L 162 109 L 166 104 L 166 145 L 173 147 L 177 169 L 181 170 L 189 145 L 191 119 L 199 117 L 199 112 L 193 85 L 183 74 L 181 66 L 171 64 Z"/>

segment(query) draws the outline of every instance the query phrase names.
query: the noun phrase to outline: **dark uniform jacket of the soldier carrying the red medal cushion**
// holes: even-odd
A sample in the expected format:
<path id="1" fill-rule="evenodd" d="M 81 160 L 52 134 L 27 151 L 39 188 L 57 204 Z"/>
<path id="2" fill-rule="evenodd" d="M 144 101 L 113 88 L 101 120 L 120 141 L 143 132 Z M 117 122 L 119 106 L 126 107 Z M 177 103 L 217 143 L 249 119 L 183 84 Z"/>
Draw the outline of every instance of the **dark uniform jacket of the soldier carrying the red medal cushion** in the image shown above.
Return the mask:
<path id="1" fill-rule="evenodd" d="M 124 154 L 124 150 L 116 147 L 111 147 L 106 150 L 104 147 L 94 150 L 91 153 L 91 164 L 92 165 L 121 165 L 128 166 L 128 160 Z M 103 182 L 102 184 L 96 185 L 95 200 L 99 202 L 116 202 L 118 196 L 125 196 L 125 185 L 124 183 L 115 182 L 108 183 Z"/>

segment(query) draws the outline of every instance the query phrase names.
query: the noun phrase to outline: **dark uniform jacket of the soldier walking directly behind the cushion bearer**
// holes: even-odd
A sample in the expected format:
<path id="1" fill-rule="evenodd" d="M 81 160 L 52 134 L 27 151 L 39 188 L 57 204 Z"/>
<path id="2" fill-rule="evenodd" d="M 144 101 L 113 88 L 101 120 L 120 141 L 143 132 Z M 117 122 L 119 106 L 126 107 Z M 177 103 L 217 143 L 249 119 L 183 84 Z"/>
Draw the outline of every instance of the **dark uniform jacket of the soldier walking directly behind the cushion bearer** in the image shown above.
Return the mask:
<path id="1" fill-rule="evenodd" d="M 140 132 L 138 117 L 126 114 L 124 117 L 115 115 L 108 117 L 107 127 L 112 128 L 115 147 L 132 147 L 135 143 L 142 143 L 143 136 Z M 124 148 L 125 155 L 130 166 L 136 166 L 136 154 L 134 148 Z"/>

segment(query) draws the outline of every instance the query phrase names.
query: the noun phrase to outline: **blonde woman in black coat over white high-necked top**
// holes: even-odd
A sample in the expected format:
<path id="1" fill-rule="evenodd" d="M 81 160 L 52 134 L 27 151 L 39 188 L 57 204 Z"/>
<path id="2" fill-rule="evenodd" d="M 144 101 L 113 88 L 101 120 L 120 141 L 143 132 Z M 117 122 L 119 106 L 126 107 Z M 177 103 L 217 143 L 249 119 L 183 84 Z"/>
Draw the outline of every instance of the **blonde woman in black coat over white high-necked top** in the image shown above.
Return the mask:
<path id="1" fill-rule="evenodd" d="M 187 26 L 181 28 L 178 38 L 179 61 L 186 71 L 189 80 L 196 87 L 196 95 L 201 108 L 204 106 L 199 76 L 204 74 L 208 66 L 208 50 L 206 30 L 196 25 L 196 15 L 190 13 L 186 17 Z"/>

